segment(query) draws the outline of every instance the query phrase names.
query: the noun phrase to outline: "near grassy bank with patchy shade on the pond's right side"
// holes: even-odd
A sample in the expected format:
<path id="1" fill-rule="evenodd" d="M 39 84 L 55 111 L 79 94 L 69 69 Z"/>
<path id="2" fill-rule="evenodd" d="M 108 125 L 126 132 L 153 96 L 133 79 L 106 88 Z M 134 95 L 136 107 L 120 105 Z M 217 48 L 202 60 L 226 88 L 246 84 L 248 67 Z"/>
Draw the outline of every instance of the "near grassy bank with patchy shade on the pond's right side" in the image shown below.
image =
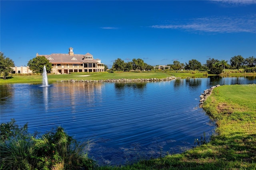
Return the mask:
<path id="1" fill-rule="evenodd" d="M 182 154 L 101 170 L 256 169 L 256 85 L 216 87 L 203 108 L 216 120 L 217 134 L 209 143 Z M 204 143 L 204 141 L 202 141 Z"/>

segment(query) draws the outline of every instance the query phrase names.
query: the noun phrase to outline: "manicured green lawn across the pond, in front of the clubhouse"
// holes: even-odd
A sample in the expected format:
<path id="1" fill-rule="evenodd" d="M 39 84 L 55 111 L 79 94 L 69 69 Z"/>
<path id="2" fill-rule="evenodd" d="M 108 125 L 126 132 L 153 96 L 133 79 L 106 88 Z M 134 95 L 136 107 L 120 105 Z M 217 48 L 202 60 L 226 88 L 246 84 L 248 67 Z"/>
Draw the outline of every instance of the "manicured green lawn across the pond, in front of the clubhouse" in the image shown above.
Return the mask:
<path id="1" fill-rule="evenodd" d="M 88 75 L 83 77 L 81 75 Z M 150 71 L 150 72 L 100 72 L 100 73 L 72 73 L 72 74 L 58 74 L 48 75 L 48 81 L 60 80 L 105 80 L 105 79 L 137 79 L 137 78 L 166 78 L 170 76 L 175 77 L 206 77 L 206 72 L 202 71 L 189 71 L 189 72 L 176 72 L 176 71 Z M 9 79 L 0 79 L 0 83 L 31 83 L 42 82 L 42 75 L 12 75 Z"/>

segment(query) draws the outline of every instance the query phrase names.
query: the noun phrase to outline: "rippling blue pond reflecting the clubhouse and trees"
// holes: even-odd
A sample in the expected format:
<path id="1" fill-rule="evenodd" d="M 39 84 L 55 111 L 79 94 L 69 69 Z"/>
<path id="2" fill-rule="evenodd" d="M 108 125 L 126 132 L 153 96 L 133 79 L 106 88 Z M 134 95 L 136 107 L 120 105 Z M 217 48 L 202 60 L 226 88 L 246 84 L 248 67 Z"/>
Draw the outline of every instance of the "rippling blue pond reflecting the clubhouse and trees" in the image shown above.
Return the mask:
<path id="1" fill-rule="evenodd" d="M 89 156 L 98 164 L 129 164 L 180 153 L 214 132 L 199 108 L 205 89 L 252 84 L 255 77 L 209 77 L 161 82 L 55 82 L 0 85 L 1 119 L 28 123 L 30 132 L 61 126 L 78 141 L 94 139 Z"/>

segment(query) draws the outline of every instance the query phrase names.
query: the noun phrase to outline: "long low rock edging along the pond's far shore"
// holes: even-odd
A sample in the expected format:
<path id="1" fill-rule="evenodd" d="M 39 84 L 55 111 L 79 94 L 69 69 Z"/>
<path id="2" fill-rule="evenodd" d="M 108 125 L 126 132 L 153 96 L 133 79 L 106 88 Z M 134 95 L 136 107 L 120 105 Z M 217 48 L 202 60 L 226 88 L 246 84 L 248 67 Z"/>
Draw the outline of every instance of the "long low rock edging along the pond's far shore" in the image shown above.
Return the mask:
<path id="1" fill-rule="evenodd" d="M 166 77 L 166 78 L 162 78 L 162 79 L 158 79 L 158 78 L 150 78 L 150 79 L 106 79 L 106 80 L 61 80 L 63 81 L 68 81 L 68 82 L 127 82 L 127 81 L 170 81 L 173 79 L 180 79 L 180 77 Z"/>

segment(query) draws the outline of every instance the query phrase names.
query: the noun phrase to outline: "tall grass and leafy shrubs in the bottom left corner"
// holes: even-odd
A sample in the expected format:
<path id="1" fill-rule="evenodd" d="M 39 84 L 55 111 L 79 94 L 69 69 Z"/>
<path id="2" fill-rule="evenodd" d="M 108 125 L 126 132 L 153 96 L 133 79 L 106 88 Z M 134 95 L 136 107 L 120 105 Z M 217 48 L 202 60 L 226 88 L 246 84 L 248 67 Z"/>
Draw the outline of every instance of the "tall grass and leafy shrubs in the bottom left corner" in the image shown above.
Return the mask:
<path id="1" fill-rule="evenodd" d="M 27 127 L 18 127 L 14 119 L 1 124 L 1 169 L 93 169 L 88 158 L 92 140 L 77 142 L 62 127 L 38 137 L 29 134 Z"/>

